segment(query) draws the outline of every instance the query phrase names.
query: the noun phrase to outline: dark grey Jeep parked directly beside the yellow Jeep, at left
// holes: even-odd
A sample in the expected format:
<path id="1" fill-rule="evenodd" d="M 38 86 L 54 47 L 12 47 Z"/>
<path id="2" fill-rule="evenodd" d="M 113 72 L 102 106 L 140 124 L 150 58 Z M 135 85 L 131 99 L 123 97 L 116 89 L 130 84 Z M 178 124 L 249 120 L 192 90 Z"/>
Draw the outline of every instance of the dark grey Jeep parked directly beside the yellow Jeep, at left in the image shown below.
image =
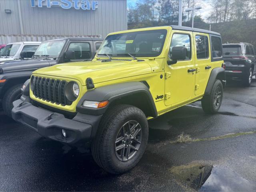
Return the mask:
<path id="1" fill-rule="evenodd" d="M 36 69 L 60 63 L 92 60 L 102 39 L 65 38 L 44 41 L 29 60 L 0 64 L 0 99 L 4 112 L 11 116 L 12 102 L 21 96 L 22 84 Z"/>

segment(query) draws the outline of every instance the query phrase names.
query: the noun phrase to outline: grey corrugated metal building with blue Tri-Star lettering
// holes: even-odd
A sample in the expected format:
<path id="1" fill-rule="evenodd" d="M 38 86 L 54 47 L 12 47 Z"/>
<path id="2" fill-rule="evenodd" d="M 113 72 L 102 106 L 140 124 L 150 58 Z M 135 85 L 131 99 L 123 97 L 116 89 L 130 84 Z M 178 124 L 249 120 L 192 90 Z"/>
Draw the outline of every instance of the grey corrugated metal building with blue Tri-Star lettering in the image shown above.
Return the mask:
<path id="1" fill-rule="evenodd" d="M 127 29 L 126 0 L 0 0 L 0 44 L 104 38 Z"/>

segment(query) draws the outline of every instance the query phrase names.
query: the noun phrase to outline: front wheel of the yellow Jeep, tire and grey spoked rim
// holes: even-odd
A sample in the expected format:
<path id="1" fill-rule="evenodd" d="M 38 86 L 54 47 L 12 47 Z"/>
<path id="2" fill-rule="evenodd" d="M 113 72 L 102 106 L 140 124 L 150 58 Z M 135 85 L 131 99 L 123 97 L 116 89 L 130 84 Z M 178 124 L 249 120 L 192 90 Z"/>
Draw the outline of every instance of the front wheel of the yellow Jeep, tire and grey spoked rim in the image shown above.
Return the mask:
<path id="1" fill-rule="evenodd" d="M 103 116 L 92 156 L 107 172 L 120 174 L 133 168 L 142 157 L 148 142 L 148 121 L 137 107 L 117 105 Z"/>

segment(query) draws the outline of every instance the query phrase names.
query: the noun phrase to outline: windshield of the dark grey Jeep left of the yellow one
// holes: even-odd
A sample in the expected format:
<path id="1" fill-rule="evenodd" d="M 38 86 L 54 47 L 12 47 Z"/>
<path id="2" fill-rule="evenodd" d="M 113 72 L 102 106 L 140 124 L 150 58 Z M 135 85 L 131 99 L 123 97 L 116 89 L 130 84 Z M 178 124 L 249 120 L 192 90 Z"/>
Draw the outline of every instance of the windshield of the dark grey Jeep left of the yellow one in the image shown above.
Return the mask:
<path id="1" fill-rule="evenodd" d="M 35 52 L 35 56 L 59 57 L 65 40 L 42 42 Z"/>

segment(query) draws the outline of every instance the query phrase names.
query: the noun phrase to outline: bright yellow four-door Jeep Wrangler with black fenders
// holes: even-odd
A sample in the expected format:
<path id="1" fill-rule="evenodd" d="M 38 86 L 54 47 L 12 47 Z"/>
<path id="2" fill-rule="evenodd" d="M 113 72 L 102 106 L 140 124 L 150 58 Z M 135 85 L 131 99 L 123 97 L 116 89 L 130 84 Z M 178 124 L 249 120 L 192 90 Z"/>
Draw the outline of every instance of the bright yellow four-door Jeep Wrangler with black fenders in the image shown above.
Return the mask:
<path id="1" fill-rule="evenodd" d="M 69 53 L 83 54 L 78 51 Z M 201 100 L 218 112 L 225 86 L 220 34 L 162 26 L 109 34 L 92 61 L 33 72 L 13 102 L 14 120 L 66 144 L 90 144 L 96 163 L 119 174 L 148 141 L 148 120 Z"/>

